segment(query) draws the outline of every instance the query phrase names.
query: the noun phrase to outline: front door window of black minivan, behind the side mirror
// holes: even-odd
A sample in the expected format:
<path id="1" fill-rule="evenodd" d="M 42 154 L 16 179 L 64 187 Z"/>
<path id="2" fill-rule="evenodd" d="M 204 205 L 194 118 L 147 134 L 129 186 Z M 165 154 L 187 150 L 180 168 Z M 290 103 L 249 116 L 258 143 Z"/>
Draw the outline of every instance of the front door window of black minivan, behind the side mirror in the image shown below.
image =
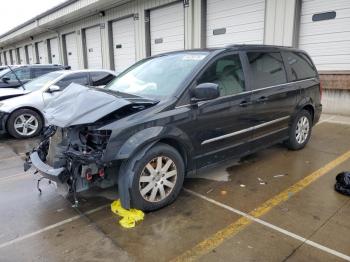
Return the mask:
<path id="1" fill-rule="evenodd" d="M 228 55 L 217 59 L 199 78 L 198 84 L 201 83 L 218 84 L 220 96 L 244 92 L 245 81 L 239 55 Z"/>

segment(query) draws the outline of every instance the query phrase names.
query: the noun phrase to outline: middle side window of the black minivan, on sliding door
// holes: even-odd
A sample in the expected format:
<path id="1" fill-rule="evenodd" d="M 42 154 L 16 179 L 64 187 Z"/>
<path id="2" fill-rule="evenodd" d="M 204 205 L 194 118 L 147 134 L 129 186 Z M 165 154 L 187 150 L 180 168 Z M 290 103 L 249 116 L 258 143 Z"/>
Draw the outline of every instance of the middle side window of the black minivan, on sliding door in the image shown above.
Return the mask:
<path id="1" fill-rule="evenodd" d="M 287 83 L 286 70 L 279 52 L 247 53 L 254 89 Z"/>

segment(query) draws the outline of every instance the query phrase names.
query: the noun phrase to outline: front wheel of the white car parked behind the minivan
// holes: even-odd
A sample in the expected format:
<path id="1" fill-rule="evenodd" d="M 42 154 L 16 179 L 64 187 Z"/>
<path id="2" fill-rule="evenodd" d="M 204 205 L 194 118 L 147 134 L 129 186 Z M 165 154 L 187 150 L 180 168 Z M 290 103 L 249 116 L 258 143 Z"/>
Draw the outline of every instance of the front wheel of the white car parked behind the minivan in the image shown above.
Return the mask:
<path id="1" fill-rule="evenodd" d="M 15 138 L 37 136 L 43 127 L 41 116 L 31 109 L 19 109 L 7 120 L 7 131 Z"/>

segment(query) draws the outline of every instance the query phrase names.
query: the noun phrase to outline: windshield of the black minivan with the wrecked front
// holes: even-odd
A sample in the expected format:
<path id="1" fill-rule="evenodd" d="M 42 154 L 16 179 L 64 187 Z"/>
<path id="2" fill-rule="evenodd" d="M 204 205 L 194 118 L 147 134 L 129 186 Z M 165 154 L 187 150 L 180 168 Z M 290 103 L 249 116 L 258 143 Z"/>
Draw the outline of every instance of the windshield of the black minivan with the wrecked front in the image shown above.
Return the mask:
<path id="1" fill-rule="evenodd" d="M 107 89 L 159 99 L 173 95 L 208 52 L 159 56 L 136 63 L 106 86 Z"/>

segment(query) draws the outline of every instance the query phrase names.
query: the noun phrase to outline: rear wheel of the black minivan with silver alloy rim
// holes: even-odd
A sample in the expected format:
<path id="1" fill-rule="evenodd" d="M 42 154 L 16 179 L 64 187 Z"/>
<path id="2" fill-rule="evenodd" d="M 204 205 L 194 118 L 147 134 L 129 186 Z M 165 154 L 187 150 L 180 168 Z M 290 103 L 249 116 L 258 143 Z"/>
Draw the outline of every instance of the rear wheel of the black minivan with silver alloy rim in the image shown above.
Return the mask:
<path id="1" fill-rule="evenodd" d="M 297 113 L 289 128 L 289 138 L 286 145 L 291 150 L 300 150 L 306 146 L 311 137 L 312 117 L 309 111 L 301 110 Z"/>

